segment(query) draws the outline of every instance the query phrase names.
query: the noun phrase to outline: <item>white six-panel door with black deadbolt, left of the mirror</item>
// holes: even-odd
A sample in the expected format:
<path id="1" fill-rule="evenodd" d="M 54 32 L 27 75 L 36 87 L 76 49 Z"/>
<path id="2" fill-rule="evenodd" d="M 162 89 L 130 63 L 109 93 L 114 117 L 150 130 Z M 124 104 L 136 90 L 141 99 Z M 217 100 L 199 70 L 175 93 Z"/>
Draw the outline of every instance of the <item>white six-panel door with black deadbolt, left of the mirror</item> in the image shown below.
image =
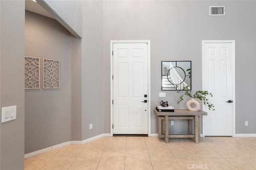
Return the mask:
<path id="1" fill-rule="evenodd" d="M 148 44 L 113 43 L 113 134 L 148 134 Z"/>

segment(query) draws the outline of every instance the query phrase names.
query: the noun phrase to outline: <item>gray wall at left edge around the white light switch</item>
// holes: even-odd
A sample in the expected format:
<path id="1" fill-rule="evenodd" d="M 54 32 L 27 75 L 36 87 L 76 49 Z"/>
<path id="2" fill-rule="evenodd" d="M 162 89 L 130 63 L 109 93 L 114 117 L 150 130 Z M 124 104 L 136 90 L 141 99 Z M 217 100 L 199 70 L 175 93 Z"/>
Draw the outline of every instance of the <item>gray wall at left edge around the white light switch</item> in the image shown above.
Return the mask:
<path id="1" fill-rule="evenodd" d="M 0 123 L 0 169 L 24 168 L 24 1 L 0 1 L 0 107 L 17 106 Z"/>

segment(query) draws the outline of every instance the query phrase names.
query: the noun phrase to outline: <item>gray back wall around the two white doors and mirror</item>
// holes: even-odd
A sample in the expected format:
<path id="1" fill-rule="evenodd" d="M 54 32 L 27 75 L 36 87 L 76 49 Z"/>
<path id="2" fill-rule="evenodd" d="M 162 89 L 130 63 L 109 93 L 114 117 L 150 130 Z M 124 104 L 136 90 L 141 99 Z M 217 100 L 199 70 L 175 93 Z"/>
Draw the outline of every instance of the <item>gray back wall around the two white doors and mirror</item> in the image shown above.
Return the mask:
<path id="1" fill-rule="evenodd" d="M 226 16 L 209 16 L 209 6 L 226 6 Z M 94 6 L 96 9 L 96 4 Z M 102 16 L 98 16 L 100 19 Z M 110 40 L 151 40 L 151 133 L 157 133 L 153 108 L 166 100 L 176 109 L 178 94 L 161 92 L 161 61 L 192 61 L 192 91 L 202 89 L 202 40 L 236 40 L 236 133 L 256 133 L 253 113 L 256 62 L 256 1 L 104 2 L 105 126 L 110 133 Z M 87 32 L 90 33 L 90 32 Z M 244 82 L 249 82 L 244 84 Z M 249 126 L 244 126 L 244 121 Z M 180 124 L 180 127 L 184 124 Z M 178 129 L 178 128 L 177 128 Z"/>

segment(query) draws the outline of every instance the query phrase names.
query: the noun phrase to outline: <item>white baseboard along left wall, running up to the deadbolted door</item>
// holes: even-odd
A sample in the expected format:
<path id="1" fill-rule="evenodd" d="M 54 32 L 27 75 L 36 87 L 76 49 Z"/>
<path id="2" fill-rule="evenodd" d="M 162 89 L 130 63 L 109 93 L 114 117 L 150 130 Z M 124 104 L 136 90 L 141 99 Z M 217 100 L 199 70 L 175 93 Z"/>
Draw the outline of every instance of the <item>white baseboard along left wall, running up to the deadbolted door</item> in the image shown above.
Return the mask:
<path id="1" fill-rule="evenodd" d="M 26 158 L 30 158 L 32 156 L 36 156 L 38 154 L 42 154 L 44 152 L 48 152 L 48 151 L 51 151 L 51 150 L 54 150 L 54 149 L 58 149 L 58 148 L 61 148 L 61 147 L 65 147 L 65 146 L 68 146 L 68 145 L 82 145 L 84 143 L 88 143 L 90 141 L 94 141 L 94 140 L 99 139 L 99 138 L 104 137 L 104 136 L 110 137 L 110 133 L 103 133 L 101 135 L 97 135 L 95 137 L 91 137 L 91 138 L 85 139 L 83 141 L 69 141 L 69 142 L 64 142 L 64 143 L 61 143 L 61 144 L 58 144 L 58 145 L 54 145 L 52 147 L 48 147 L 48 148 L 45 148 L 45 149 L 36 150 L 34 152 L 30 152 L 28 154 L 25 154 L 24 158 L 25 159 Z"/>

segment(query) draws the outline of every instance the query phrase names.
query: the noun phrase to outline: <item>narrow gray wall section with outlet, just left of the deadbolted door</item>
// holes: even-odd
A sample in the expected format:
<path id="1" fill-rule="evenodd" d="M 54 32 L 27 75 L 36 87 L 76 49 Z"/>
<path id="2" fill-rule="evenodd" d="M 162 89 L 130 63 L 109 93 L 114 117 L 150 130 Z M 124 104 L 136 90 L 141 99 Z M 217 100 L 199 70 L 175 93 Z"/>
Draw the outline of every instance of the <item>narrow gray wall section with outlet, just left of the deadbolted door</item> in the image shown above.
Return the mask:
<path id="1" fill-rule="evenodd" d="M 104 132 L 103 1 L 84 1 L 82 38 L 82 139 Z M 109 119 L 109 118 L 108 118 Z M 107 120 L 108 120 L 107 119 Z M 89 130 L 89 125 L 92 129 Z M 110 123 L 109 123 L 110 124 Z"/>

